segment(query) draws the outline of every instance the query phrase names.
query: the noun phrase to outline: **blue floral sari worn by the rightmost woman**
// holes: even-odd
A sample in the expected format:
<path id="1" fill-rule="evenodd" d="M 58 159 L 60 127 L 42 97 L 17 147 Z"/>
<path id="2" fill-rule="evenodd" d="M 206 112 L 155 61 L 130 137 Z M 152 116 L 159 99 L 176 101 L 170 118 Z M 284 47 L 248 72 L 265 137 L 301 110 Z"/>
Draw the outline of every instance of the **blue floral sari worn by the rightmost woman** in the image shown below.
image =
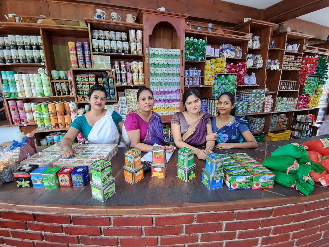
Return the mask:
<path id="1" fill-rule="evenodd" d="M 248 130 L 248 123 L 238 117 L 234 117 L 231 123 L 226 124 L 220 129 L 216 125 L 216 118 L 211 122 L 213 127 L 213 132 L 217 132 L 218 136 L 216 139 L 217 143 L 241 143 L 245 142 L 242 134 L 244 131 Z"/>

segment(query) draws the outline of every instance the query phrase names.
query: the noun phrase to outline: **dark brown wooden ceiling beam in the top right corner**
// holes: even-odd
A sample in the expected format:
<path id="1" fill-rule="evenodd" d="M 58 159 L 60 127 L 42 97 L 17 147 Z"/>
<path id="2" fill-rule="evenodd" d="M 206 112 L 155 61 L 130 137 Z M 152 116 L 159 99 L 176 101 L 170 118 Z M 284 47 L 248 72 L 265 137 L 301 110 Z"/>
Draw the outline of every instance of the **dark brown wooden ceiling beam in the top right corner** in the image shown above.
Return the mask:
<path id="1" fill-rule="evenodd" d="M 263 11 L 262 19 L 281 23 L 329 7 L 329 0 L 283 0 Z"/>

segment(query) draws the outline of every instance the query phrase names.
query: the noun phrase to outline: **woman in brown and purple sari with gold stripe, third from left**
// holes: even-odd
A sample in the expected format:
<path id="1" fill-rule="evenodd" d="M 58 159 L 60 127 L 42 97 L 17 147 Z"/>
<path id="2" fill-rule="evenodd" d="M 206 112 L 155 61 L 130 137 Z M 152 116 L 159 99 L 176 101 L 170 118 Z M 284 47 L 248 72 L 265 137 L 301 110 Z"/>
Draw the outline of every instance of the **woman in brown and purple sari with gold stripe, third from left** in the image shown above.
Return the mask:
<path id="1" fill-rule="evenodd" d="M 199 159 L 206 159 L 208 153 L 213 153 L 215 141 L 206 141 L 207 134 L 212 134 L 211 120 L 213 117 L 201 109 L 202 97 L 195 88 L 190 88 L 183 95 L 185 111 L 177 112 L 171 119 L 171 131 L 177 148 L 189 148 Z M 195 146 L 206 144 L 206 149 Z"/>

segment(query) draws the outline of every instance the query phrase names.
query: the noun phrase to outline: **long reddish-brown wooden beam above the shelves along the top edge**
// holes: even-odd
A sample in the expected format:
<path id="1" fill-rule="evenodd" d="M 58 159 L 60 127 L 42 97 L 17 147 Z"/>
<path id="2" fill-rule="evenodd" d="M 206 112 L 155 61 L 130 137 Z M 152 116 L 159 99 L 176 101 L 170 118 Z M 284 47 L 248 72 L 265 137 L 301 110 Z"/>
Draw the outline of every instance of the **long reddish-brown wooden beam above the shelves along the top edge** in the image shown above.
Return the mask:
<path id="1" fill-rule="evenodd" d="M 169 12 L 189 14 L 192 19 L 200 18 L 206 22 L 212 20 L 214 23 L 226 22 L 240 24 L 243 22 L 243 17 L 250 17 L 252 19 L 259 19 L 261 17 L 261 10 L 259 9 L 220 0 L 204 0 L 201 2 L 190 0 L 94 0 L 92 2 L 90 2 L 90 0 L 47 0 L 47 2 L 71 4 L 88 3 L 94 6 L 103 5 L 106 8 L 130 9 L 136 12 L 139 8 L 156 10 L 160 7 L 165 7 L 166 11 Z"/>

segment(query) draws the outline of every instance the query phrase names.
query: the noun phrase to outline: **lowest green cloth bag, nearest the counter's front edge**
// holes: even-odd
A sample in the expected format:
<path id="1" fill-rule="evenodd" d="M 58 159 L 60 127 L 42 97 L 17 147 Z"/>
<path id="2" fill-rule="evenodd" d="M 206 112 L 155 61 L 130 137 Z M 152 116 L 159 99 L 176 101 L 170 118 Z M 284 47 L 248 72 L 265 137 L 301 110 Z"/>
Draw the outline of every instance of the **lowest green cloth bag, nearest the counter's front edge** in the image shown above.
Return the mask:
<path id="1" fill-rule="evenodd" d="M 274 181 L 286 186 L 293 187 L 297 191 L 303 193 L 306 196 L 309 196 L 311 192 L 314 190 L 314 185 L 311 185 L 304 180 L 297 180 L 295 174 L 286 174 L 285 172 L 270 170 L 275 174 Z"/>

